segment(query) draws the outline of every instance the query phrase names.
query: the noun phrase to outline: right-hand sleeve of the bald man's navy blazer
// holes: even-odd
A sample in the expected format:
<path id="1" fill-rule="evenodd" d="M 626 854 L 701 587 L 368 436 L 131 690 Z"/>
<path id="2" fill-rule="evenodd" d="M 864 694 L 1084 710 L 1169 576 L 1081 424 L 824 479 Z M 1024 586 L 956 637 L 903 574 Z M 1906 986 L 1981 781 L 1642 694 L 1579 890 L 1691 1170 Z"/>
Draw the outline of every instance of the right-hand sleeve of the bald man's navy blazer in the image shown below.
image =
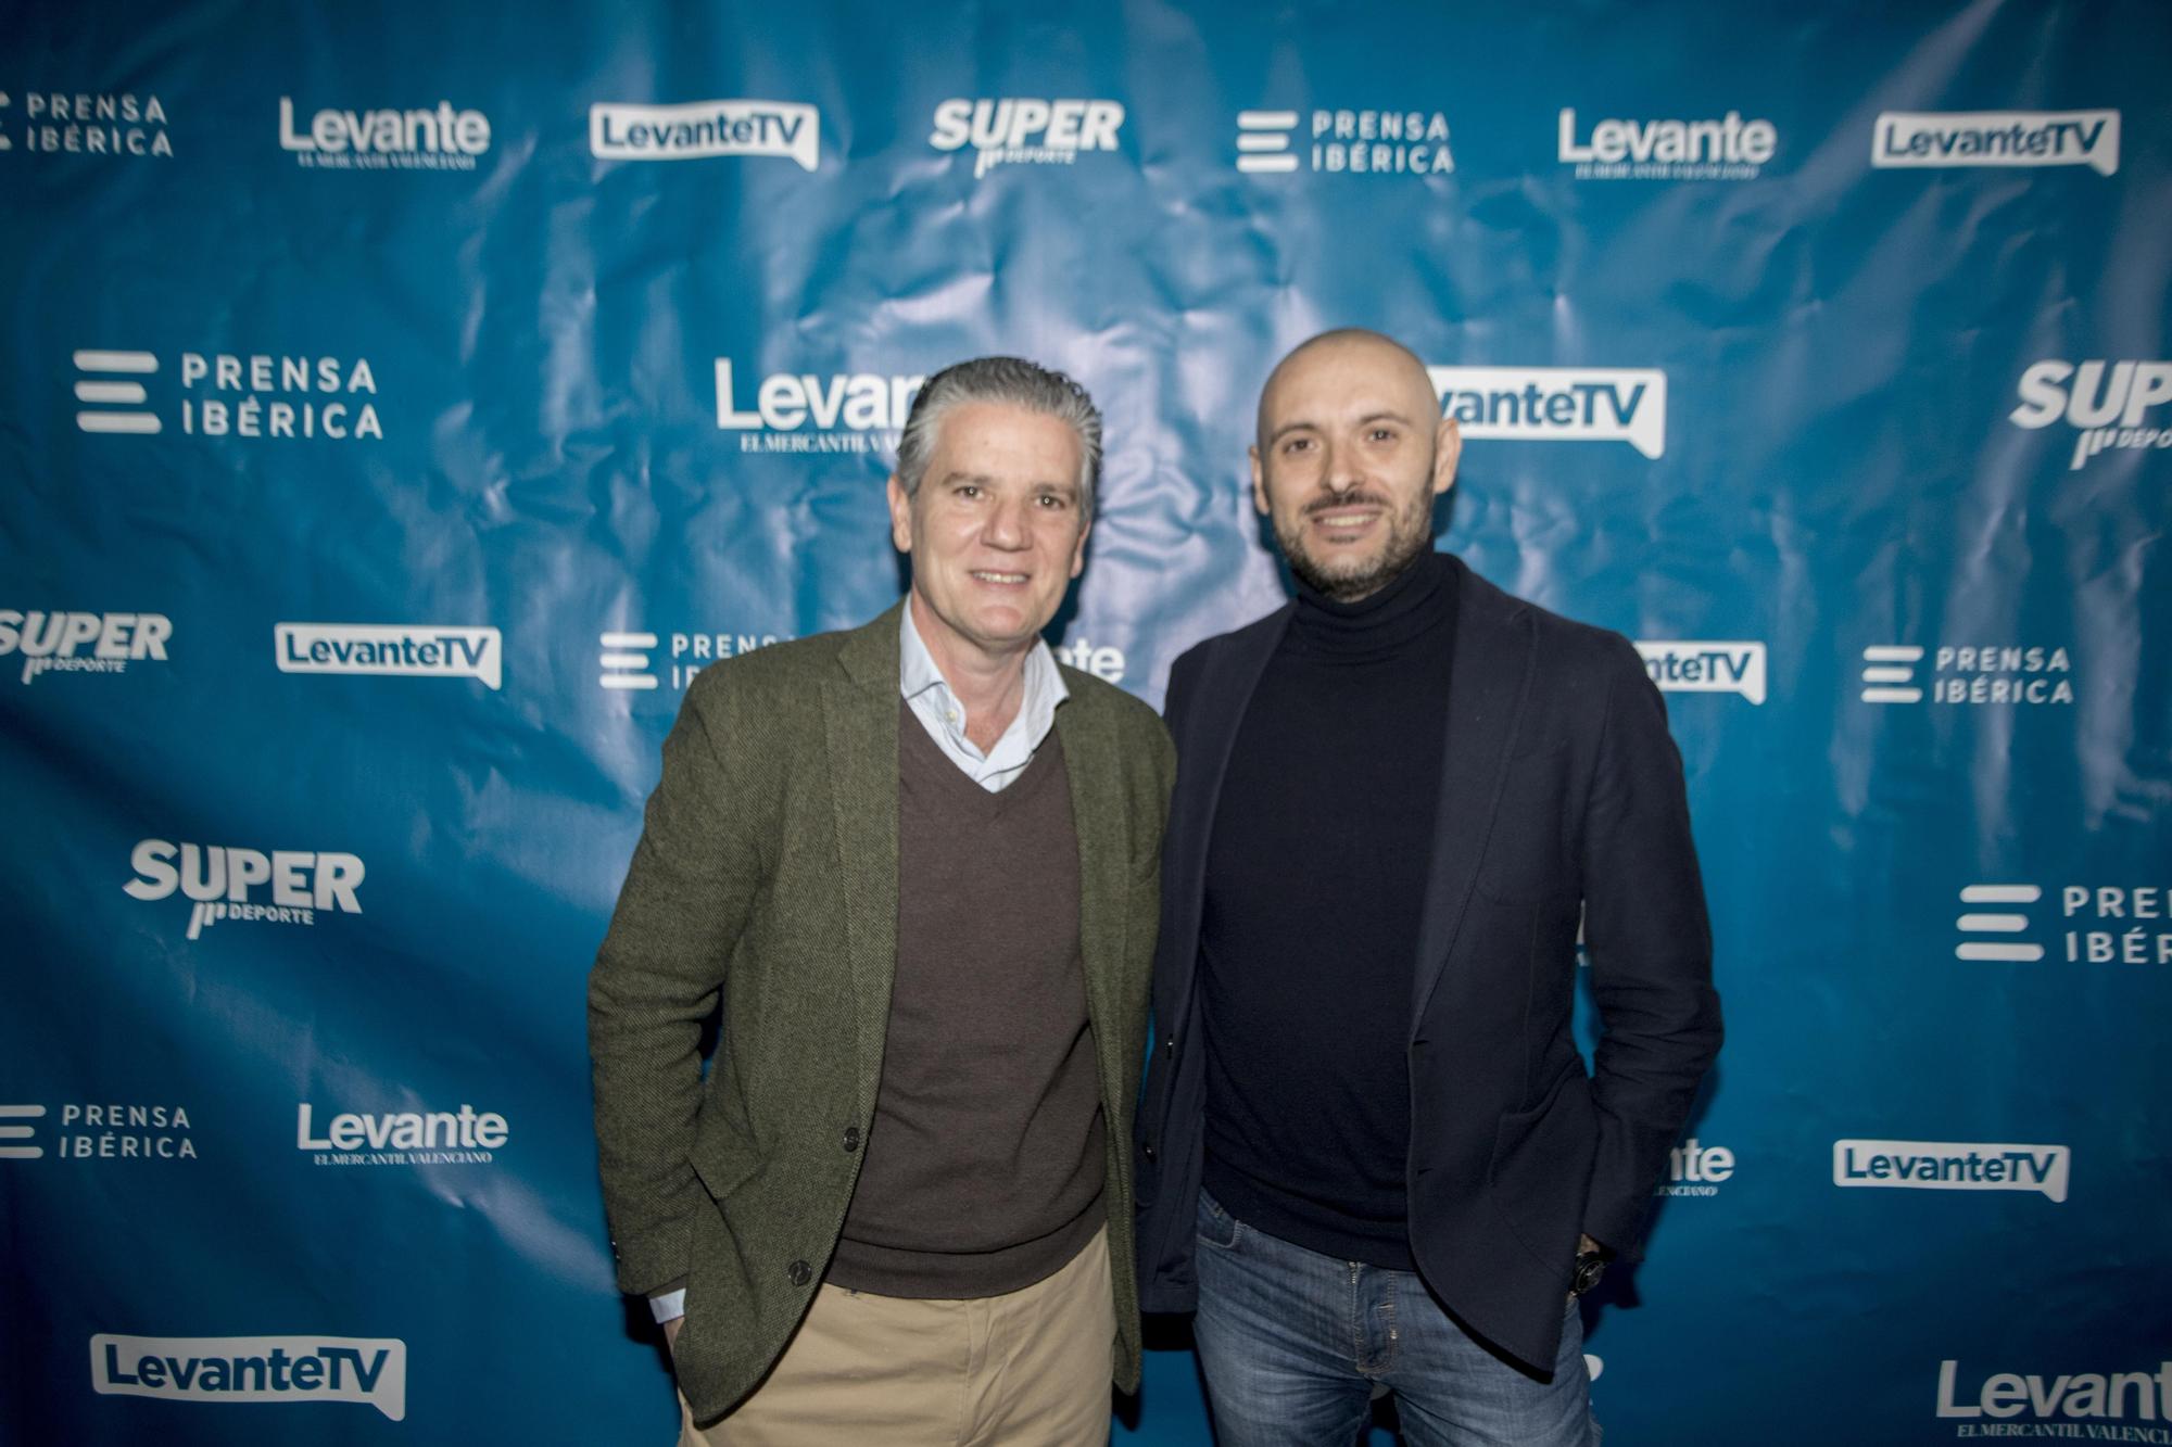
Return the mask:
<path id="1" fill-rule="evenodd" d="M 1720 1049 L 1712 926 L 1666 704 L 1609 639 L 1605 717 L 1583 817 L 1583 936 L 1603 1036 L 1592 1065 L 1599 1152 L 1583 1230 L 1642 1256 L 1651 1191 Z"/>

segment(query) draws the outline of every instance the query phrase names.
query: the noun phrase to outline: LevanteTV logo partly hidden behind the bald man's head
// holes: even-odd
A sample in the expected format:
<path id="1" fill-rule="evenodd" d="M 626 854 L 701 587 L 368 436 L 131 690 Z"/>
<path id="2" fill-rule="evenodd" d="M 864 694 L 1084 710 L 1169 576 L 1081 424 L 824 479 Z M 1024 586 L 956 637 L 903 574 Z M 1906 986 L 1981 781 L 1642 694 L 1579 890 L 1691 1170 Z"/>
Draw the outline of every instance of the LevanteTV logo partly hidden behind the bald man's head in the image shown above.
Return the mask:
<path id="1" fill-rule="evenodd" d="M 1464 437 L 1625 441 L 1666 456 L 1666 374 L 1651 367 L 1427 367 Z"/>

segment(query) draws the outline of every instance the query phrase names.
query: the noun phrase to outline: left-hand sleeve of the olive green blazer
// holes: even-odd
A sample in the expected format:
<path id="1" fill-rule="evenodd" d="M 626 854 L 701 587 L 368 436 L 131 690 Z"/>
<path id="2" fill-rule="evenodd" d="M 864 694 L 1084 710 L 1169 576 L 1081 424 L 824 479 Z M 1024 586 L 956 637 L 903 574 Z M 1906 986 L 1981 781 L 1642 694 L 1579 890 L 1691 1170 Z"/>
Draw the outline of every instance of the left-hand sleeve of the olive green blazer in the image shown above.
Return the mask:
<path id="1" fill-rule="evenodd" d="M 686 691 L 665 739 L 634 860 L 589 973 L 595 1141 L 619 1288 L 654 1293 L 689 1273 L 702 1199 L 689 1152 L 702 1102 L 702 1026 L 760 889 L 762 850 L 730 758 L 723 674 Z M 725 741 L 736 750 L 728 750 Z"/>

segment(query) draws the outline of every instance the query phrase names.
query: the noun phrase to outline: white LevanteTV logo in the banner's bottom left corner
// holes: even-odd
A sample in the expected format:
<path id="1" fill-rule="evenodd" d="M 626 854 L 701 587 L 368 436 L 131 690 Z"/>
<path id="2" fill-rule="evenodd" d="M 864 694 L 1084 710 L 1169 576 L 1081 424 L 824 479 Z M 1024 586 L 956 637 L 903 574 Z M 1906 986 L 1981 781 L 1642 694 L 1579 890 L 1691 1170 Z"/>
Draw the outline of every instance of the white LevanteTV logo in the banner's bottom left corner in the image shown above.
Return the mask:
<path id="1" fill-rule="evenodd" d="M 167 1401 L 365 1401 L 406 1417 L 406 1343 L 387 1336 L 91 1338 L 91 1391 Z"/>

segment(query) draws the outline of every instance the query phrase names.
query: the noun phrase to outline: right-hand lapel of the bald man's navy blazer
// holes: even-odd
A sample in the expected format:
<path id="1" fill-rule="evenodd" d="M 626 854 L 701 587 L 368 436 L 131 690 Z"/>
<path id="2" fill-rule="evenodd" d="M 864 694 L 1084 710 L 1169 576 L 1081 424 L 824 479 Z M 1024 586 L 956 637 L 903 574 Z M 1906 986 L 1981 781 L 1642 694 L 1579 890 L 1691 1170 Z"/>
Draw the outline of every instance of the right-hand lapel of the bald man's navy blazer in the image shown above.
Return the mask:
<path id="1" fill-rule="evenodd" d="M 1434 817 L 1434 867 L 1418 915 L 1418 969 L 1412 980 L 1412 1034 L 1455 949 L 1455 934 L 1492 836 L 1501 784 L 1525 702 L 1531 697 L 1538 632 L 1520 602 L 1457 563 L 1455 663 L 1449 680 L 1449 730 Z"/>

